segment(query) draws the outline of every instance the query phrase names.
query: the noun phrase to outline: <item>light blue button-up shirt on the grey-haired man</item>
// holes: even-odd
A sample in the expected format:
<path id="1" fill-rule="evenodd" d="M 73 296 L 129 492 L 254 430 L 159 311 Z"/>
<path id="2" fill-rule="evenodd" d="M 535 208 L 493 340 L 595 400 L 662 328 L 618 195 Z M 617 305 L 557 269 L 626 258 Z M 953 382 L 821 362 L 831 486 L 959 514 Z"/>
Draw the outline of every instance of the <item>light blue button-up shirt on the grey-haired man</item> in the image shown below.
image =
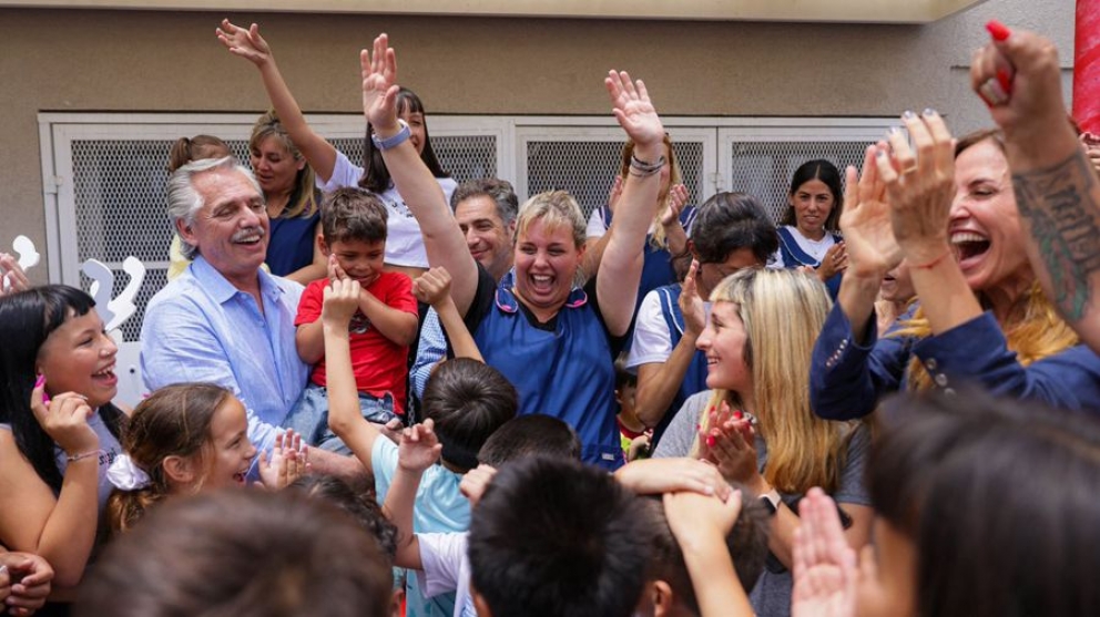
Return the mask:
<path id="1" fill-rule="evenodd" d="M 230 390 L 248 413 L 248 439 L 271 450 L 309 367 L 294 345 L 303 287 L 259 270 L 261 313 L 202 256 L 150 300 L 141 328 L 141 371 L 150 391 L 205 381 Z"/>

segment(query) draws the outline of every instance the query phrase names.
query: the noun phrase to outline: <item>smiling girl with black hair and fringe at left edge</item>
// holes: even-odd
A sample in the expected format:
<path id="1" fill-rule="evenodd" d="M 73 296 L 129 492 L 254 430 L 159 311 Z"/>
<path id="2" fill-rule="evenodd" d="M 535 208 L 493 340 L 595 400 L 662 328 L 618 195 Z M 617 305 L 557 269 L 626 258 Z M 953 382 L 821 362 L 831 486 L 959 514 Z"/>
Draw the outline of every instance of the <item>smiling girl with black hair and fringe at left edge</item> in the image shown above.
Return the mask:
<path id="1" fill-rule="evenodd" d="M 125 423 L 94 306 L 62 285 L 0 298 L 0 544 L 44 557 L 55 587 L 84 574 Z"/>

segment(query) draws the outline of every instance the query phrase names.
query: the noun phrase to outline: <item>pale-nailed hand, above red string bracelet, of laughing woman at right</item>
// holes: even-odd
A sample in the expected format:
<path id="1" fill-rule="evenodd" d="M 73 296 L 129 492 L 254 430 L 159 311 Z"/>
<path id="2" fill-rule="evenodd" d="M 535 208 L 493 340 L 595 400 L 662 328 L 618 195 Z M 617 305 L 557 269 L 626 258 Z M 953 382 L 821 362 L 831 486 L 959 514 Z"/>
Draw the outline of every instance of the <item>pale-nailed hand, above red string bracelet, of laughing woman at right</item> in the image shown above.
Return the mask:
<path id="1" fill-rule="evenodd" d="M 916 153 L 900 131 L 889 136 L 893 154 L 879 148 L 876 165 L 890 203 L 894 237 L 911 267 L 927 267 L 951 250 L 947 228 L 955 197 L 955 144 L 933 110 L 902 115 Z"/>

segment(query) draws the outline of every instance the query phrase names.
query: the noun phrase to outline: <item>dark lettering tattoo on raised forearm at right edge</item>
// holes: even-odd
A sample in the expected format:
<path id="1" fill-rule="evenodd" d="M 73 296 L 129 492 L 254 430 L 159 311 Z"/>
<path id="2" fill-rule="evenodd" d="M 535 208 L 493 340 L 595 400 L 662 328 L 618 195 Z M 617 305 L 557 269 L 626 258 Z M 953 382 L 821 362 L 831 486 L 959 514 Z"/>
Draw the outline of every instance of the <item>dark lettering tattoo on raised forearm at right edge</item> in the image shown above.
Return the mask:
<path id="1" fill-rule="evenodd" d="M 1055 301 L 1070 321 L 1089 308 L 1092 276 L 1100 272 L 1100 191 L 1096 172 L 1078 148 L 1046 169 L 1012 174 L 1016 204 L 1031 224 L 1038 253 L 1050 271 Z"/>

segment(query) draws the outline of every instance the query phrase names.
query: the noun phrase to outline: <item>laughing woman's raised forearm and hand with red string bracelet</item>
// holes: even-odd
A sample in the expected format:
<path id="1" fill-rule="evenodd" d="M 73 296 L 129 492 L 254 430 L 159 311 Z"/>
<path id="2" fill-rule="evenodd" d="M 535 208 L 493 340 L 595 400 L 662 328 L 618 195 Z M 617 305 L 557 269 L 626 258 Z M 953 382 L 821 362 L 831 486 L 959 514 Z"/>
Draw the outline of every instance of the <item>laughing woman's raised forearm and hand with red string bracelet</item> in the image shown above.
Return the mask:
<path id="1" fill-rule="evenodd" d="M 890 196 L 894 237 L 909 263 L 913 287 L 934 335 L 981 315 L 981 306 L 955 260 L 948 238 L 955 195 L 955 142 L 933 110 L 902 116 L 917 152 L 900 133 L 893 154 L 879 151 L 878 173 Z"/>

